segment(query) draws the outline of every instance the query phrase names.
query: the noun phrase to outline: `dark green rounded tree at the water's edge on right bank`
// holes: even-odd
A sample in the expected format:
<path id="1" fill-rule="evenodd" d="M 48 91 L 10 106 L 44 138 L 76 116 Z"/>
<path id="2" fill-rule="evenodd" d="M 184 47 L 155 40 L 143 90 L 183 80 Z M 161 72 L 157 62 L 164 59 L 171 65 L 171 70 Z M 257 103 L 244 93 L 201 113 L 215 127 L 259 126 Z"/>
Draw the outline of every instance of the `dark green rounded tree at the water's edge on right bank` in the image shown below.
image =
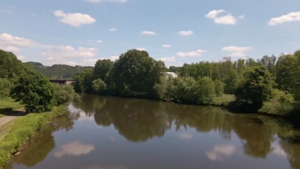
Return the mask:
<path id="1" fill-rule="evenodd" d="M 263 66 L 247 68 L 243 74 L 244 79 L 235 91 L 237 101 L 245 110 L 257 111 L 271 97 L 272 78 Z"/>

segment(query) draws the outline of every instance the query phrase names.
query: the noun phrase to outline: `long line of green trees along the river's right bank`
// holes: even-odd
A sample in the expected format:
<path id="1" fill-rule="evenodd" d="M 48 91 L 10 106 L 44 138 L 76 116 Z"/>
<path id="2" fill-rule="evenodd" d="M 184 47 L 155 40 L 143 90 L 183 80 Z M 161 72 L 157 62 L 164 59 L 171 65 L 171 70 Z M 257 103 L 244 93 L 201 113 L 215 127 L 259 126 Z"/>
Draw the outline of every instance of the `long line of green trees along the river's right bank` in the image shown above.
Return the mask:
<path id="1" fill-rule="evenodd" d="M 166 72 L 175 72 L 178 78 Z M 74 76 L 76 92 L 161 99 L 185 104 L 214 104 L 223 94 L 234 94 L 228 106 L 240 111 L 287 115 L 299 110 L 300 50 L 260 59 L 225 57 L 219 62 L 171 66 L 136 49 L 112 62 L 98 60 L 93 69 Z"/>

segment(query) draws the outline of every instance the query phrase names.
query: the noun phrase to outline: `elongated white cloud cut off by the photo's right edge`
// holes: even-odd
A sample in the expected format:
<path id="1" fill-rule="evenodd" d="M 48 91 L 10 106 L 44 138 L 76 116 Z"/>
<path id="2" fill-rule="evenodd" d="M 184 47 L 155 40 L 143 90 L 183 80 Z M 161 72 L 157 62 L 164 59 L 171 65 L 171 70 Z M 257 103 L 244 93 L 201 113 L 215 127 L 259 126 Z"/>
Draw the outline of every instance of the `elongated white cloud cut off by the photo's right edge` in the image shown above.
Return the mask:
<path id="1" fill-rule="evenodd" d="M 286 15 L 282 15 L 276 18 L 271 18 L 268 22 L 268 25 L 274 26 L 277 24 L 282 24 L 285 22 L 293 22 L 293 21 L 300 21 L 300 11 L 290 12 Z"/>

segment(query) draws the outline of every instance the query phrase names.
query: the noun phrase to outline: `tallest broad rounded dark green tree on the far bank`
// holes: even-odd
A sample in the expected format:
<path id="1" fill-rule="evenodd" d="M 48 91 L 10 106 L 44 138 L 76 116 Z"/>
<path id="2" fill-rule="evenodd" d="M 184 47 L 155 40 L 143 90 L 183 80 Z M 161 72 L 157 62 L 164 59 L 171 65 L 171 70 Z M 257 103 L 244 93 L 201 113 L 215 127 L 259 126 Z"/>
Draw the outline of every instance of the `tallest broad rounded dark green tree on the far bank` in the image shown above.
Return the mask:
<path id="1" fill-rule="evenodd" d="M 164 63 L 155 61 L 146 51 L 136 49 L 121 54 L 112 68 L 112 79 L 119 95 L 153 97 Z"/>

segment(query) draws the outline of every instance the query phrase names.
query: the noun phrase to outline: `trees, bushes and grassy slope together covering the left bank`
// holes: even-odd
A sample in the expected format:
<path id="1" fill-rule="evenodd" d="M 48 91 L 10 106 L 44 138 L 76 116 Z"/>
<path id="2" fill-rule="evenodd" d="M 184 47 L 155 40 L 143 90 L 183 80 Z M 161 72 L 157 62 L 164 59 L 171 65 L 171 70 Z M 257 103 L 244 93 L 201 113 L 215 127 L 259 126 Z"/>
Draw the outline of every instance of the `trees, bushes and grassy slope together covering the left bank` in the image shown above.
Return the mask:
<path id="1" fill-rule="evenodd" d="M 1 126 L 0 166 L 20 151 L 40 127 L 66 114 L 65 104 L 76 97 L 72 86 L 51 84 L 13 53 L 0 50 L 0 117 L 22 107 L 29 113 Z"/>

